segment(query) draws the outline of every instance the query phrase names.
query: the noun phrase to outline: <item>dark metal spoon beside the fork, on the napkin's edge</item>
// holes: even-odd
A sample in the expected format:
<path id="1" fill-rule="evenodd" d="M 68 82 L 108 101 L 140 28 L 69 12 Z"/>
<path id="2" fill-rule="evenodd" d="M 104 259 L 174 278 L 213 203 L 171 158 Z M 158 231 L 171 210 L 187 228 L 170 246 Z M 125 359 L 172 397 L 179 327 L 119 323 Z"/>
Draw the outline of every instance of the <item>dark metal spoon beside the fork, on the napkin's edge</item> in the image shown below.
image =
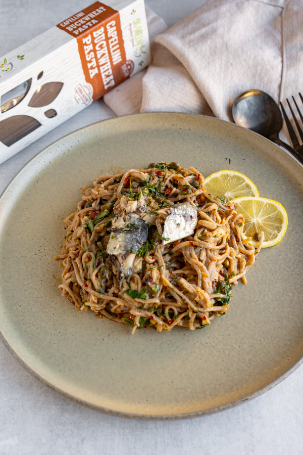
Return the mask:
<path id="1" fill-rule="evenodd" d="M 232 117 L 237 125 L 251 129 L 293 153 L 279 138 L 283 119 L 277 103 L 262 90 L 246 90 L 233 102 Z"/>

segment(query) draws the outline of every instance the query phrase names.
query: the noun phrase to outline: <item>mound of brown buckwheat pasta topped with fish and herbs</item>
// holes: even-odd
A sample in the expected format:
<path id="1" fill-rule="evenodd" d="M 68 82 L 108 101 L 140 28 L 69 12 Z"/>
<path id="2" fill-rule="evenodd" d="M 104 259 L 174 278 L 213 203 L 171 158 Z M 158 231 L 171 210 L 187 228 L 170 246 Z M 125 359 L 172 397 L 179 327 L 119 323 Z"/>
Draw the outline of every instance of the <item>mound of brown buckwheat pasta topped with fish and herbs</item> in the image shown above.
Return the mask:
<path id="1" fill-rule="evenodd" d="M 59 288 L 78 310 L 130 324 L 203 329 L 229 308 L 232 285 L 262 245 L 243 240 L 243 216 L 178 163 L 97 178 L 65 220 Z"/>

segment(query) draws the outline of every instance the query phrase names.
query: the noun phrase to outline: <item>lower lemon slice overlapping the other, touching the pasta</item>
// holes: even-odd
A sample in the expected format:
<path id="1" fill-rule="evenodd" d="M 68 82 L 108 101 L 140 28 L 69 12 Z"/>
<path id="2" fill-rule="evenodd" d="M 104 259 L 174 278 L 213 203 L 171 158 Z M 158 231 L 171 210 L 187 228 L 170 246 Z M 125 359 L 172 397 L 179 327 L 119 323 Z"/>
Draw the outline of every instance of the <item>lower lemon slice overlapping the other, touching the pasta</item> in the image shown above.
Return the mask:
<path id="1" fill-rule="evenodd" d="M 243 235 L 251 237 L 249 245 L 258 245 L 258 236 L 264 232 L 262 248 L 270 248 L 279 243 L 287 229 L 288 218 L 280 202 L 260 197 L 235 198 L 237 212 L 244 217 Z"/>

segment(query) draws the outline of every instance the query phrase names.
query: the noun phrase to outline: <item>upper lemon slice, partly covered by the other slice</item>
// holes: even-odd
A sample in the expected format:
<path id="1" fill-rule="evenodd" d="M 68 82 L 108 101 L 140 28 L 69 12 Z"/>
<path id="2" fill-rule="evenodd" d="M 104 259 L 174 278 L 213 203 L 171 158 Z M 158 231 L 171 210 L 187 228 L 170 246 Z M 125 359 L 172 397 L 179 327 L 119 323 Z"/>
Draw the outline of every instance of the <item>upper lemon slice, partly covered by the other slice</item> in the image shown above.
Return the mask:
<path id="1" fill-rule="evenodd" d="M 209 175 L 205 181 L 207 192 L 229 202 L 240 196 L 259 196 L 256 185 L 246 175 L 233 170 L 221 170 Z"/>

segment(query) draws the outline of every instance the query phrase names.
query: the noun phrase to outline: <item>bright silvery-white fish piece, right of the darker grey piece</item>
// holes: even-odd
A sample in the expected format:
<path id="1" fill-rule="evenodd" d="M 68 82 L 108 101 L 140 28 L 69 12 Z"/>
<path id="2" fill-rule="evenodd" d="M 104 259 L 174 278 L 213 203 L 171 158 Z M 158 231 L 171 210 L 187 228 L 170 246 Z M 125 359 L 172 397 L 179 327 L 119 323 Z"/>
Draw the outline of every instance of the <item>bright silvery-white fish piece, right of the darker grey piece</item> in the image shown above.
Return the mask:
<path id="1" fill-rule="evenodd" d="M 161 236 L 165 239 L 163 245 L 191 236 L 197 224 L 197 210 L 190 202 L 175 204 L 169 209 Z"/>

